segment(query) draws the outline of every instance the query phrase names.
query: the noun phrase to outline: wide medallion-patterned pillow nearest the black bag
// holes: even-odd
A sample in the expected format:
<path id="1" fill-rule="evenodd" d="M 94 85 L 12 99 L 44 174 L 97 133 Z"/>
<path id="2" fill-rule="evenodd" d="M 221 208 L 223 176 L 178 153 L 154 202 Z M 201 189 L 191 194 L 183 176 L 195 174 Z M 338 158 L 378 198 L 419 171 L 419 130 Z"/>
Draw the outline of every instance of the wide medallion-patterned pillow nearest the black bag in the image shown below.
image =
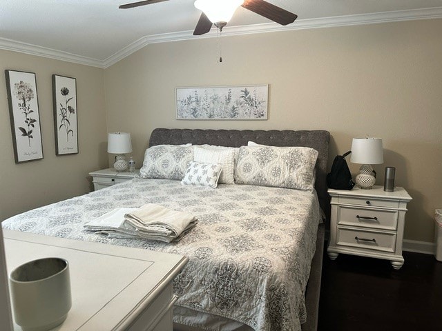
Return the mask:
<path id="1" fill-rule="evenodd" d="M 235 182 L 314 190 L 316 159 L 318 151 L 308 147 L 242 146 Z"/>

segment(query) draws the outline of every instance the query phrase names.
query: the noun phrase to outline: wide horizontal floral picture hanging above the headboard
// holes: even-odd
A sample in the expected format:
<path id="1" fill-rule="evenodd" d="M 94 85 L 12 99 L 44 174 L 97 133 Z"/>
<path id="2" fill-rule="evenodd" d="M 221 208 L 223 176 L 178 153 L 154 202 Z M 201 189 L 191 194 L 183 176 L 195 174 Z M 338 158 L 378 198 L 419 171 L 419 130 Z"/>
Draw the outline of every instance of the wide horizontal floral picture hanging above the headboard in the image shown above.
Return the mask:
<path id="1" fill-rule="evenodd" d="M 176 88 L 177 119 L 267 119 L 269 86 Z"/>

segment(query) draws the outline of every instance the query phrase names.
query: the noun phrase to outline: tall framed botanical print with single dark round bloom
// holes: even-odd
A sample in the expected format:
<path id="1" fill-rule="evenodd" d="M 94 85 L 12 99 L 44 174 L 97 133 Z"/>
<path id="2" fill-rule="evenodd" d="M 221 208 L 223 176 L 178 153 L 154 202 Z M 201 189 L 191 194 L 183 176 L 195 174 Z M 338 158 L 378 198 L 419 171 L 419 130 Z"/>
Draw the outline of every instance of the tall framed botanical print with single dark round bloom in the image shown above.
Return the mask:
<path id="1" fill-rule="evenodd" d="M 78 153 L 77 81 L 52 74 L 55 154 Z"/>

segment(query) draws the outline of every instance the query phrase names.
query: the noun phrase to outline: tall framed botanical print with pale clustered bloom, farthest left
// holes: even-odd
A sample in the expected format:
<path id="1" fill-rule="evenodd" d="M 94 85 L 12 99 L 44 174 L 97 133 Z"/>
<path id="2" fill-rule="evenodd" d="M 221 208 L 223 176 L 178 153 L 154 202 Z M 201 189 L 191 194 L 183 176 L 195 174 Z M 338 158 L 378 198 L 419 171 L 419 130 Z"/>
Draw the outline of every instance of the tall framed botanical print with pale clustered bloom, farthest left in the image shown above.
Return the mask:
<path id="1" fill-rule="evenodd" d="M 35 73 L 5 70 L 15 163 L 43 159 Z"/>

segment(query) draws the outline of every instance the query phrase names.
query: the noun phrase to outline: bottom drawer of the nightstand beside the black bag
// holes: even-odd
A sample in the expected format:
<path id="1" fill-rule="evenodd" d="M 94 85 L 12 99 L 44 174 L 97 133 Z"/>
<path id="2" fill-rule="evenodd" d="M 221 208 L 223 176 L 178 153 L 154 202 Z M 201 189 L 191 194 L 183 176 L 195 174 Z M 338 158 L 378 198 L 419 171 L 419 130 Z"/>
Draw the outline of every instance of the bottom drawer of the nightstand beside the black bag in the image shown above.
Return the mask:
<path id="1" fill-rule="evenodd" d="M 338 228 L 336 245 L 355 248 L 368 248 L 383 252 L 394 252 L 396 248 L 396 233 L 383 233 Z"/>

